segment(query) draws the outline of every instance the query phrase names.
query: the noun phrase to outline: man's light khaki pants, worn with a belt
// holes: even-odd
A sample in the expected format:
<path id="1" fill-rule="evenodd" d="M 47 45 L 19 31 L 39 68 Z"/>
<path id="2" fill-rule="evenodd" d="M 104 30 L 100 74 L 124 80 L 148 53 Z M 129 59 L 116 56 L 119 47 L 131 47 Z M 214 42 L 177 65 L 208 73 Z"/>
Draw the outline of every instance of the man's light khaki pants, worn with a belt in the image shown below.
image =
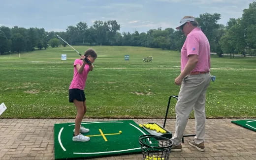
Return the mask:
<path id="1" fill-rule="evenodd" d="M 188 75 L 181 84 L 179 97 L 175 106 L 176 126 L 171 138 L 174 145 L 182 142 L 189 115 L 194 110 L 196 136 L 195 143 L 204 142 L 205 136 L 205 97 L 206 90 L 211 81 L 210 74 Z"/>

